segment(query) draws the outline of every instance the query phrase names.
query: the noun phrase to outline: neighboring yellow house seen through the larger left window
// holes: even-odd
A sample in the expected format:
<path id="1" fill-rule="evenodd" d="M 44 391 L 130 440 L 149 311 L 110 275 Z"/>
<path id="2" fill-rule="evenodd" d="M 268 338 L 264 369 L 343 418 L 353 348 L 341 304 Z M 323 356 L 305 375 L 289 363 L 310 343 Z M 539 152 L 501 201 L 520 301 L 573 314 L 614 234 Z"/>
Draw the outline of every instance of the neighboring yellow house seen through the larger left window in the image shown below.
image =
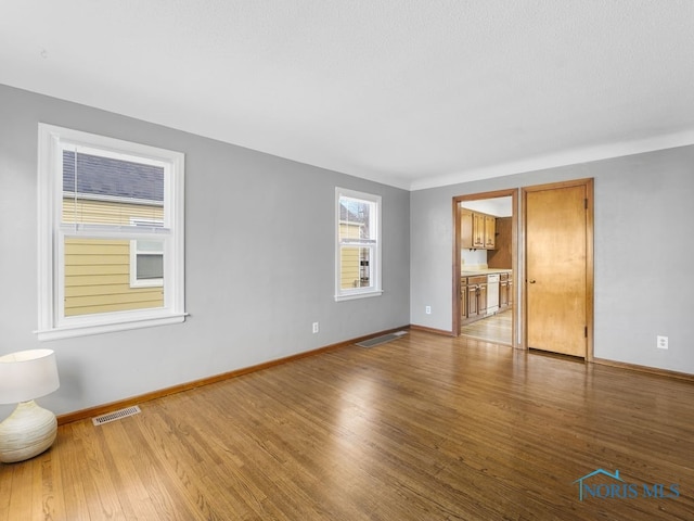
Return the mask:
<path id="1" fill-rule="evenodd" d="M 78 226 L 128 233 L 160 228 L 163 217 L 163 167 L 63 151 L 63 225 L 77 225 L 76 237 L 65 228 L 66 317 L 164 305 L 162 240 L 83 237 Z"/>

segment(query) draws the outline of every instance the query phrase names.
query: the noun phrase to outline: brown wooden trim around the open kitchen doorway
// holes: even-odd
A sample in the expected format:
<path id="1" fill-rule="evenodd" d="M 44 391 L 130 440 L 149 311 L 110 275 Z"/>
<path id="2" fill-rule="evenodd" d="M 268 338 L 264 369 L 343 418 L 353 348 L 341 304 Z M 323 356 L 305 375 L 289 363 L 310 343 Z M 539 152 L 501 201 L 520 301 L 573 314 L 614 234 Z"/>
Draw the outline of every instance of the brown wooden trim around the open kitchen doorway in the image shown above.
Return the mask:
<path id="1" fill-rule="evenodd" d="M 512 204 L 512 216 L 511 216 L 511 270 L 514 280 L 514 306 L 513 306 L 513 320 L 511 326 L 511 345 L 514 348 L 519 347 L 518 341 L 518 328 L 519 328 L 519 314 L 517 309 L 519 306 L 516 305 L 519 302 L 518 288 L 520 284 L 516 282 L 517 274 L 518 274 L 518 196 L 519 189 L 510 188 L 506 190 L 496 190 L 491 192 L 479 192 L 479 193 L 470 193 L 466 195 L 457 195 L 453 198 L 452 202 L 452 211 L 453 211 L 453 258 L 452 258 L 452 309 L 453 309 L 453 321 L 452 321 L 452 334 L 453 336 L 460 336 L 460 260 L 461 260 L 461 239 L 460 239 L 460 205 L 459 203 L 463 201 L 479 201 L 484 199 L 497 199 L 497 198 L 511 198 Z"/>

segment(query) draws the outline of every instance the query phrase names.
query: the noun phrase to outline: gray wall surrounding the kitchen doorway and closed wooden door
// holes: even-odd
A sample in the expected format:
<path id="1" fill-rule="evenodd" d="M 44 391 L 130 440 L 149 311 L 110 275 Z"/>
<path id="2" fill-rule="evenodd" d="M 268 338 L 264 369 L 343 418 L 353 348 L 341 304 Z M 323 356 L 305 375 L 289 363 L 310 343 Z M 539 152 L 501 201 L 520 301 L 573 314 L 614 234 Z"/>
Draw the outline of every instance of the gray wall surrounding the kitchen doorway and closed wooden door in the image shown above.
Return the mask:
<path id="1" fill-rule="evenodd" d="M 588 177 L 595 180 L 595 356 L 694 373 L 694 147 L 412 192 L 411 322 L 452 328 L 453 196 Z M 657 334 L 669 336 L 668 351 L 655 347 Z"/>

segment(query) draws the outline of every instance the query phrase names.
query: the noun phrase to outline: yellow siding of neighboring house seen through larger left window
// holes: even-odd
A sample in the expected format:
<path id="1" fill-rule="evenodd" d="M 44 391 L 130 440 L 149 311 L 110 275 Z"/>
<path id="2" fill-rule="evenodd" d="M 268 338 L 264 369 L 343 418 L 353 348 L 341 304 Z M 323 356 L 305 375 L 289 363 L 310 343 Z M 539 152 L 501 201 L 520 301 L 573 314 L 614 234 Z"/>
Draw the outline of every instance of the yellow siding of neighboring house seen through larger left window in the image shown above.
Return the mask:
<path id="1" fill-rule="evenodd" d="M 75 202 L 64 200 L 63 221 L 75 221 Z M 77 201 L 77 220 L 130 225 L 163 219 L 160 206 Z M 164 288 L 130 287 L 130 241 L 65 239 L 65 316 L 164 306 Z"/>

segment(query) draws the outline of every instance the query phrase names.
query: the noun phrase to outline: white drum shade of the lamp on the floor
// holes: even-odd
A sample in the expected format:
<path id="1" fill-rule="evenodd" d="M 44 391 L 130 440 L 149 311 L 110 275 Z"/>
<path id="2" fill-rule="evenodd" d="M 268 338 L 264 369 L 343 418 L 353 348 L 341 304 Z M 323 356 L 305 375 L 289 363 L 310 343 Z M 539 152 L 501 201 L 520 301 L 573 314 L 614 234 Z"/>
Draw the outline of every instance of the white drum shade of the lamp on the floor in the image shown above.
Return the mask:
<path id="1" fill-rule="evenodd" d="M 28 402 L 56 391 L 55 353 L 30 350 L 0 356 L 0 404 Z"/>

